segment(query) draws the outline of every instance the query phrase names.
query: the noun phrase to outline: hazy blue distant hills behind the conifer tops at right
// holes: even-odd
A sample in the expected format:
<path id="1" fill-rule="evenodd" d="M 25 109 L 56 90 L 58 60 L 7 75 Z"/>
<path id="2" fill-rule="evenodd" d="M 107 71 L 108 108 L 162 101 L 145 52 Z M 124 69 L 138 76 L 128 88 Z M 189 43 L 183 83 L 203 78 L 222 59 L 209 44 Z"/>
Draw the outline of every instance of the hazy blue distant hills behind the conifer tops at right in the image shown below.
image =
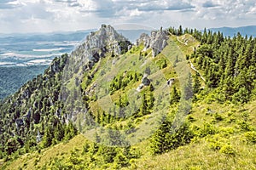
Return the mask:
<path id="1" fill-rule="evenodd" d="M 220 27 L 210 28 L 212 31 L 221 31 L 224 36 L 233 37 L 237 32 L 240 32 L 242 36 L 256 37 L 256 26 L 241 26 L 241 27 Z"/>

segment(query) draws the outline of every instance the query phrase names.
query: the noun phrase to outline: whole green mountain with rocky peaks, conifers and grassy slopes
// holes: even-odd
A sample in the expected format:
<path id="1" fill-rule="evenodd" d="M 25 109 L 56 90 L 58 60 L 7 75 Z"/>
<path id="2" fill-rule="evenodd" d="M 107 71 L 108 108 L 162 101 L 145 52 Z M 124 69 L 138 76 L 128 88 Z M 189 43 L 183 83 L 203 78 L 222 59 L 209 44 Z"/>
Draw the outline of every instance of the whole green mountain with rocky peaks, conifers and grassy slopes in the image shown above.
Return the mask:
<path id="1" fill-rule="evenodd" d="M 255 42 L 180 26 L 131 45 L 102 25 L 1 105 L 0 165 L 253 169 Z"/>

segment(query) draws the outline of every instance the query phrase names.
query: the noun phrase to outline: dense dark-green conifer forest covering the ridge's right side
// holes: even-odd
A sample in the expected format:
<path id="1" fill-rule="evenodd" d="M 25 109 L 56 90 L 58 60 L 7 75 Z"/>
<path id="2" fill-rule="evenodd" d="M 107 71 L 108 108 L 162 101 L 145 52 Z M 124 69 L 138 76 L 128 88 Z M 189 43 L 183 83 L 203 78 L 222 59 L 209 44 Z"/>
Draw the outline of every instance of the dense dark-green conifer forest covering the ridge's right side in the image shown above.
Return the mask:
<path id="1" fill-rule="evenodd" d="M 239 33 L 232 39 L 224 38 L 211 31 L 204 31 L 199 38 L 202 45 L 189 59 L 204 71 L 207 88 L 214 88 L 216 99 L 222 102 L 249 101 L 255 89 L 255 39 Z"/>

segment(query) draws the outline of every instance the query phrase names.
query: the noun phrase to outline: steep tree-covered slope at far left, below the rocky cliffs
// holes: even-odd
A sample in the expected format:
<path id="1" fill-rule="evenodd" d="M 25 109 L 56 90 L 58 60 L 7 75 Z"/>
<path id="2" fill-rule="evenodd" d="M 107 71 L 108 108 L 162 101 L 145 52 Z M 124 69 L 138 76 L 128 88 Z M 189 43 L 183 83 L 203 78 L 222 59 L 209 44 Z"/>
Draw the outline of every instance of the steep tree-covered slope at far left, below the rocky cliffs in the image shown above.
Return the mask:
<path id="1" fill-rule="evenodd" d="M 44 75 L 38 75 L 19 92 L 3 100 L 0 114 L 1 158 L 9 160 L 12 155 L 46 148 L 77 134 L 72 122 L 63 124 L 60 119 L 67 114 L 64 105 L 58 101 L 61 71 L 66 59 L 67 54 L 54 59 Z"/>

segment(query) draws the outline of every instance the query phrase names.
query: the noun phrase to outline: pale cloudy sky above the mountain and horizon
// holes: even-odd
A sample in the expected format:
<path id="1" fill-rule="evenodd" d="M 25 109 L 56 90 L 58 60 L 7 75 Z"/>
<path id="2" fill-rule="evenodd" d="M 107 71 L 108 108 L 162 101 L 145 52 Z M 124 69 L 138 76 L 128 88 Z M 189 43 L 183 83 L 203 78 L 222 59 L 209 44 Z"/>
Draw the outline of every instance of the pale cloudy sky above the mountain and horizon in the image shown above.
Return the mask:
<path id="1" fill-rule="evenodd" d="M 87 30 L 102 23 L 127 29 L 249 26 L 256 25 L 256 1 L 0 0 L 0 33 Z"/>

